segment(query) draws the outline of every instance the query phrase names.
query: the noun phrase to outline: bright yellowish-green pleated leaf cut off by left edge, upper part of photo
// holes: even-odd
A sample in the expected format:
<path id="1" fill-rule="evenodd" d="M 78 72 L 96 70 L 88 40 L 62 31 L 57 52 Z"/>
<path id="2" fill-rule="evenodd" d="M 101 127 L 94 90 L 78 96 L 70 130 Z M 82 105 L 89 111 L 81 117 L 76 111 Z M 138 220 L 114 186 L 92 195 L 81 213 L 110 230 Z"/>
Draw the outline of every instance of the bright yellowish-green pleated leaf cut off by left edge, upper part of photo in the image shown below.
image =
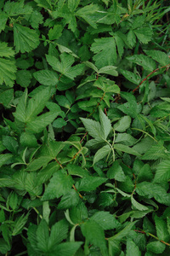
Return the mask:
<path id="1" fill-rule="evenodd" d="M 0 84 L 3 82 L 9 87 L 13 87 L 16 73 L 15 61 L 0 58 Z"/>

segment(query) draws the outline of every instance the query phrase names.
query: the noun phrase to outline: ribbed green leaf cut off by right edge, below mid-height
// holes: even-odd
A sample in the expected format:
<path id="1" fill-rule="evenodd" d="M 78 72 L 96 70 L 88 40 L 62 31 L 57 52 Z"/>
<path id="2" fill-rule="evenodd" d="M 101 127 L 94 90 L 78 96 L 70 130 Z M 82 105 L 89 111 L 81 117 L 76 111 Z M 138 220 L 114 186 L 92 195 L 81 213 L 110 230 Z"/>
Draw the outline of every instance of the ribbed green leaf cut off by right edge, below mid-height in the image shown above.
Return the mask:
<path id="1" fill-rule="evenodd" d="M 156 176 L 154 182 L 163 183 L 168 182 L 170 179 L 170 160 L 161 160 L 158 166 L 156 166 Z"/>

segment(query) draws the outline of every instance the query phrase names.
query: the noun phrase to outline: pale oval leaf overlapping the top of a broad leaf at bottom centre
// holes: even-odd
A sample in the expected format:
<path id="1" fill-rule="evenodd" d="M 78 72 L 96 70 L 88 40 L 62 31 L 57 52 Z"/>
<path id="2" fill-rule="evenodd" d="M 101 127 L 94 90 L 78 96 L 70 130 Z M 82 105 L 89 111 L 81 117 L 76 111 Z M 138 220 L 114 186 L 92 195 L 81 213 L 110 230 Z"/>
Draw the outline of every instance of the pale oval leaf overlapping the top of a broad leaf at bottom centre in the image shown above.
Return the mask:
<path id="1" fill-rule="evenodd" d="M 120 226 L 120 223 L 110 212 L 96 212 L 90 219 L 99 224 L 103 230 L 113 230 Z"/>

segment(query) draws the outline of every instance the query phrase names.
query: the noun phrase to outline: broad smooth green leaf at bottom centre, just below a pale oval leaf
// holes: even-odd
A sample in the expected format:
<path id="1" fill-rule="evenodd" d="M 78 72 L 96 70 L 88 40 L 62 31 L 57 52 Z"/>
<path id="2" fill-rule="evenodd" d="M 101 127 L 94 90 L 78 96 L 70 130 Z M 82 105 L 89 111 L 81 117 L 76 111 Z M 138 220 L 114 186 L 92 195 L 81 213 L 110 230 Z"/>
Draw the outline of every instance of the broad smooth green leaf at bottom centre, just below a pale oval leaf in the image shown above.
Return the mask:
<path id="1" fill-rule="evenodd" d="M 102 251 L 106 251 L 104 230 L 94 220 L 88 220 L 81 224 L 82 235 L 85 236 L 87 243 L 93 243 Z M 106 254 L 107 255 L 107 254 Z"/>

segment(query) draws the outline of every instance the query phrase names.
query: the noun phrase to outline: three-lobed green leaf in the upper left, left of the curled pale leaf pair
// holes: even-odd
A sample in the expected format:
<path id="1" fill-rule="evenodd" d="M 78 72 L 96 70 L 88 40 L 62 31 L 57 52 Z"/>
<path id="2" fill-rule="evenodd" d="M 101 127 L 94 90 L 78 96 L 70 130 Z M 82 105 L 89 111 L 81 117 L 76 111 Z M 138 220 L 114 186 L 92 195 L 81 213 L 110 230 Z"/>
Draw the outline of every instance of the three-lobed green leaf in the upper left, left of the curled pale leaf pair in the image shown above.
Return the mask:
<path id="1" fill-rule="evenodd" d="M 60 61 L 52 55 L 46 55 L 48 64 L 61 75 L 65 75 L 65 77 L 73 80 L 82 73 L 84 68 L 83 64 L 77 64 L 76 66 L 71 67 L 75 61 L 75 58 L 72 55 L 64 52 L 59 55 L 59 58 Z"/>

